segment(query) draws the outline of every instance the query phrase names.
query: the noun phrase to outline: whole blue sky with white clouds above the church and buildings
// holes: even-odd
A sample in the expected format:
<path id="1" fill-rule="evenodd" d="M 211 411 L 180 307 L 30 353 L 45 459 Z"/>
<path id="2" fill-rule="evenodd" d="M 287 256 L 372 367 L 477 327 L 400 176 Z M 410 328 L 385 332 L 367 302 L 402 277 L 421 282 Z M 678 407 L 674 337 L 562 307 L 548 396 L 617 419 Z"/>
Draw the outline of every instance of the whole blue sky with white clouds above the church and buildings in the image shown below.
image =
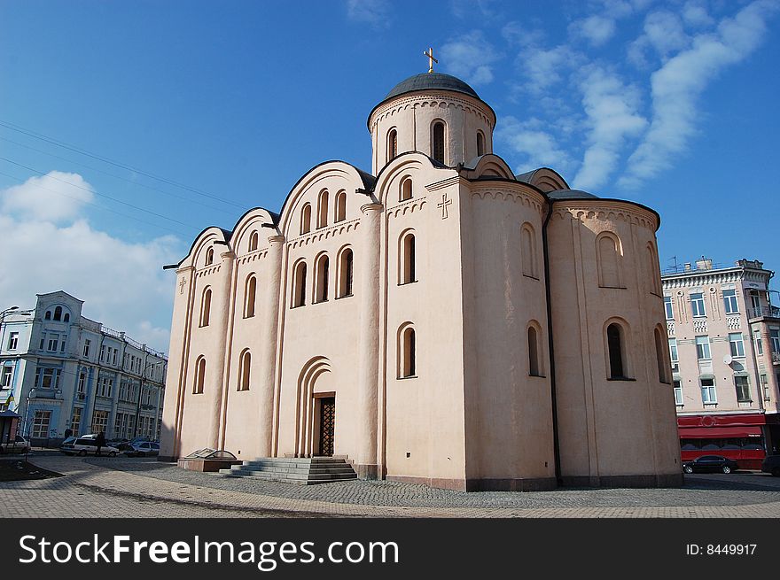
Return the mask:
<path id="1" fill-rule="evenodd" d="M 167 351 L 161 266 L 324 160 L 370 170 L 366 117 L 429 46 L 517 173 L 658 210 L 662 268 L 780 270 L 778 32 L 777 0 L 4 0 L 0 309 L 66 290 Z"/>

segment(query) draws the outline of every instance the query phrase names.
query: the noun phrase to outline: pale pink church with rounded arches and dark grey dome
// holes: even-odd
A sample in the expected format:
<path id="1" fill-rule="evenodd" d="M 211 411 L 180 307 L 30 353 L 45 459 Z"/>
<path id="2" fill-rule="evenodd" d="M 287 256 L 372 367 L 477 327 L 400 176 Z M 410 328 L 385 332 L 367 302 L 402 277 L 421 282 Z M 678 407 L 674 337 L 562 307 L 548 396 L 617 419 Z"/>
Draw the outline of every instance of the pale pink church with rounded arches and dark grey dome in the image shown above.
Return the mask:
<path id="1" fill-rule="evenodd" d="M 344 458 L 460 491 L 682 483 L 655 232 L 634 202 L 515 175 L 495 112 L 417 74 L 371 172 L 300 177 L 176 274 L 161 460 Z"/>

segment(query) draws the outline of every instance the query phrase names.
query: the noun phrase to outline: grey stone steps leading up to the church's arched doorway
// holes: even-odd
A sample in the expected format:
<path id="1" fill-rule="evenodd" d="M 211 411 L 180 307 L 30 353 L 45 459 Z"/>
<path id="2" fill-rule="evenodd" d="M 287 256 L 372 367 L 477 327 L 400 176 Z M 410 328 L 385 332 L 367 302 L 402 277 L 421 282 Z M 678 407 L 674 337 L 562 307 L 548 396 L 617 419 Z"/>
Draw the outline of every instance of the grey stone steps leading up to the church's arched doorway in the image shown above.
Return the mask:
<path id="1" fill-rule="evenodd" d="M 253 477 L 266 481 L 312 485 L 357 479 L 351 465 L 331 457 L 269 457 L 244 461 L 230 469 L 220 469 L 225 477 Z"/>

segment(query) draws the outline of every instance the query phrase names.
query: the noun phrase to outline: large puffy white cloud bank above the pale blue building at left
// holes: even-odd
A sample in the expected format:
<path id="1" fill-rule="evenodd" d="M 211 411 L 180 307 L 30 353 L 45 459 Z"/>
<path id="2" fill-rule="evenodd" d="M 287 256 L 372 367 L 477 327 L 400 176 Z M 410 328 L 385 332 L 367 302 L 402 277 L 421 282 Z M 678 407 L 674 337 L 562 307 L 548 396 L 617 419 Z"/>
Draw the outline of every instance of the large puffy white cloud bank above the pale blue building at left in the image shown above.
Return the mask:
<path id="1" fill-rule="evenodd" d="M 80 175 L 66 175 L 93 190 Z M 175 236 L 131 243 L 99 231 L 79 214 L 91 193 L 76 189 L 82 199 L 66 203 L 36 189 L 42 179 L 0 190 L 0 205 L 13 208 L 0 214 L 0 267 L 6 273 L 0 276 L 0 305 L 30 307 L 35 294 L 65 290 L 84 300 L 83 315 L 168 352 L 175 281 L 161 268 L 181 257 L 182 244 Z M 43 202 L 58 209 L 47 211 Z"/>

